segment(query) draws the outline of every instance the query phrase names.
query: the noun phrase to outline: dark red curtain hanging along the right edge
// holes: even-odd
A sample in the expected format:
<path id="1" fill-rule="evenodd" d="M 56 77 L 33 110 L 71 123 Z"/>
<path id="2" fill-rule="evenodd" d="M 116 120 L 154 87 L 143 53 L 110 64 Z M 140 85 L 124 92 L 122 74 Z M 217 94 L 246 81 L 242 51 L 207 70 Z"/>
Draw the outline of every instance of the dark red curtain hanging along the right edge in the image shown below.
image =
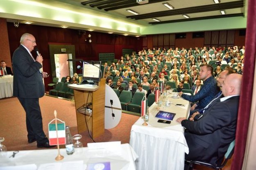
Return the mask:
<path id="1" fill-rule="evenodd" d="M 236 146 L 233 155 L 231 170 L 241 170 L 245 146 L 247 140 L 247 130 L 251 112 L 251 99 L 254 82 L 255 54 L 256 54 L 256 1 L 248 0 L 247 28 L 245 39 L 245 64 L 242 78 L 242 91 L 238 110 L 238 124 L 236 128 Z"/>

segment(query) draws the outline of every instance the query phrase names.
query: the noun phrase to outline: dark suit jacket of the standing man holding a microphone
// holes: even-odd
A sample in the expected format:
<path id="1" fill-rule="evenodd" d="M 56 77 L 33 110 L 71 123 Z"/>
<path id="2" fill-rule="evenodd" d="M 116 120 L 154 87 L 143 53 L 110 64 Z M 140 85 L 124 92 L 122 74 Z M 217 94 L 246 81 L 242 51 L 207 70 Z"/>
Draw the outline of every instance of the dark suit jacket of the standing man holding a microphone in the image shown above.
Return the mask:
<path id="1" fill-rule="evenodd" d="M 45 88 L 42 75 L 39 72 L 42 65 L 39 62 L 34 62 L 31 55 L 22 45 L 14 51 L 12 62 L 14 96 L 20 98 L 43 97 Z"/>

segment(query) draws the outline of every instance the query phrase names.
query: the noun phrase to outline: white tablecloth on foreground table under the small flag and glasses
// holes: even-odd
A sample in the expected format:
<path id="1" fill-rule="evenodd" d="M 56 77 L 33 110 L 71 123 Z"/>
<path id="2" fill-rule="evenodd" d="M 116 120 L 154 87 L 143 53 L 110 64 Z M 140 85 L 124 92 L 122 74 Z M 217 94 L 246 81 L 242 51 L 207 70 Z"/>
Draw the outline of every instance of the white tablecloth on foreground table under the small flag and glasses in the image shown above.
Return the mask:
<path id="1" fill-rule="evenodd" d="M 61 161 L 55 161 L 58 152 L 57 149 L 45 150 L 22 150 L 18 152 L 15 157 L 9 158 L 12 151 L 7 153 L 6 158 L 0 157 L 0 168 L 4 166 L 21 166 L 28 164 L 36 164 L 37 168 L 44 163 L 56 163 L 67 161 L 84 161 L 84 164 L 110 162 L 111 170 L 135 170 L 134 161 L 138 155 L 129 146 L 129 144 L 122 144 L 120 147 L 120 154 L 111 152 L 107 149 L 88 149 L 82 148 L 82 153 L 75 152 L 73 155 L 67 155 L 66 149 L 60 149 L 60 154 L 64 156 Z"/>

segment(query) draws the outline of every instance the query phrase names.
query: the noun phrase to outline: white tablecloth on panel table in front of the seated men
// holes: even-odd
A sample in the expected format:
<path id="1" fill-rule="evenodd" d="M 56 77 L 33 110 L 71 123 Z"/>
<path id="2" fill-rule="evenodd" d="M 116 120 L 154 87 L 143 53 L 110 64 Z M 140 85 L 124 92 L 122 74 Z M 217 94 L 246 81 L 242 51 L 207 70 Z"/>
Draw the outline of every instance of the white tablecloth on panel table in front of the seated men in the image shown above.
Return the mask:
<path id="1" fill-rule="evenodd" d="M 138 119 L 131 127 L 130 145 L 138 154 L 137 170 L 183 170 L 185 152 L 188 145 L 184 137 L 184 128 L 176 122 L 179 117 L 188 117 L 190 103 L 184 99 L 167 97 L 171 106 L 161 110 L 176 113 L 171 124 L 158 123 L 155 115 L 157 105 L 150 107 L 148 126 L 143 126 L 143 119 Z M 185 106 L 175 106 L 184 104 Z"/>

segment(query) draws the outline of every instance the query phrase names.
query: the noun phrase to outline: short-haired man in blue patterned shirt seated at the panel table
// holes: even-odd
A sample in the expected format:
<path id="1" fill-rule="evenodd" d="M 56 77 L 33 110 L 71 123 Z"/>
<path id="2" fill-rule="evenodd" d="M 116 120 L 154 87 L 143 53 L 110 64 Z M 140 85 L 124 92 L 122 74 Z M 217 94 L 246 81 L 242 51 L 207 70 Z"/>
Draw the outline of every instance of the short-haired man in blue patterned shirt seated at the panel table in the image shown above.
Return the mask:
<path id="1" fill-rule="evenodd" d="M 220 91 L 217 87 L 216 80 L 213 78 L 213 67 L 206 64 L 201 65 L 199 75 L 202 80 L 204 80 L 204 86 L 196 95 L 185 95 L 182 92 L 179 93 L 179 96 L 183 97 L 185 100 L 190 102 L 197 102 L 191 108 L 190 114 L 196 112 L 199 109 L 204 108 L 215 95 Z"/>

